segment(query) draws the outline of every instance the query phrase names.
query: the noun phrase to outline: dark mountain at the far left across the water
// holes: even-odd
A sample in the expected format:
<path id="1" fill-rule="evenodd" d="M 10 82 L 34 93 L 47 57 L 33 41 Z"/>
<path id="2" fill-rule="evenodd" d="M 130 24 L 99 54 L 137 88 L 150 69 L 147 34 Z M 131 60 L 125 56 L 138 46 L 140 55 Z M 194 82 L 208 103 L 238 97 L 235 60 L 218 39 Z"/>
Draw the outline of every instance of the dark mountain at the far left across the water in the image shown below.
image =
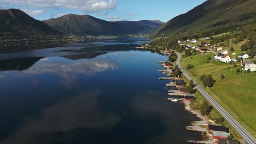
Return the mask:
<path id="1" fill-rule="evenodd" d="M 35 20 L 19 9 L 0 10 L 0 36 L 61 34 L 46 23 Z"/>

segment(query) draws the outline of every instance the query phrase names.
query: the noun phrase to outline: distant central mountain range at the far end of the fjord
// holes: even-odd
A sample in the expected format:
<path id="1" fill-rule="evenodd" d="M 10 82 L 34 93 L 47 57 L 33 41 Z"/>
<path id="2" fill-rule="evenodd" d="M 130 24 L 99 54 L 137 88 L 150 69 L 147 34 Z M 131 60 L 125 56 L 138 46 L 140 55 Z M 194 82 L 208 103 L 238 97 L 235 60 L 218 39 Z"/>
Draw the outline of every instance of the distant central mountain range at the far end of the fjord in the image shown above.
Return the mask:
<path id="1" fill-rule="evenodd" d="M 44 20 L 49 26 L 65 34 L 74 35 L 127 35 L 152 34 L 164 22 L 161 21 L 105 21 L 90 15 L 68 14 Z"/>

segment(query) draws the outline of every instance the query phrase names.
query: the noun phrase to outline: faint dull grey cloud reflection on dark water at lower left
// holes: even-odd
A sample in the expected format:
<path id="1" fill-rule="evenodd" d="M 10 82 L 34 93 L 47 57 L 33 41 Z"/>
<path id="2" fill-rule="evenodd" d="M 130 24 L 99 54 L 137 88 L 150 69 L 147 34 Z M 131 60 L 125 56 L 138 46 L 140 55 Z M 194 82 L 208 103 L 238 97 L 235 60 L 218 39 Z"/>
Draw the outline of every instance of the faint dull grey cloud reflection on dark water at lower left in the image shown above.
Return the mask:
<path id="1" fill-rule="evenodd" d="M 13 135 L 0 143 L 50 144 L 55 143 L 56 137 L 53 135 L 56 133 L 66 133 L 78 128 L 100 129 L 121 122 L 120 116 L 101 110 L 99 95 L 98 91 L 83 93 L 46 107 L 39 117 L 27 118 Z"/>

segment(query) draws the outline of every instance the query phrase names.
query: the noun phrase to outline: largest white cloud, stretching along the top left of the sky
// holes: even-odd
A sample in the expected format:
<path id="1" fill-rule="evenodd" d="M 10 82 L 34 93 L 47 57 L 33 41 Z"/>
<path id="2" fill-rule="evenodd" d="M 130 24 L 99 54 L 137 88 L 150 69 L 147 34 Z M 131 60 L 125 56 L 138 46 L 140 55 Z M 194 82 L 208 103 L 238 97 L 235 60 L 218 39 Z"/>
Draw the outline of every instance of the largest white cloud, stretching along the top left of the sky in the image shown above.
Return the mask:
<path id="1" fill-rule="evenodd" d="M 83 10 L 85 13 L 94 13 L 103 10 L 114 9 L 117 6 L 117 0 L 0 0 L 0 3 L 10 5 L 25 5 L 38 8 L 69 8 Z"/>

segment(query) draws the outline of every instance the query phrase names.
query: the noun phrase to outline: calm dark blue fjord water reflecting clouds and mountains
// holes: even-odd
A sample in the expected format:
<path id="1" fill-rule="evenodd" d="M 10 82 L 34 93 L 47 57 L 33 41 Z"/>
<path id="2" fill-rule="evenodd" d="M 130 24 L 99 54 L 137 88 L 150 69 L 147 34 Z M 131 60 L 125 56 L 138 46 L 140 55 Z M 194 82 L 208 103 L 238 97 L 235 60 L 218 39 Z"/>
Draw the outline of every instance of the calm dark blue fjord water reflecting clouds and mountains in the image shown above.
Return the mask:
<path id="1" fill-rule="evenodd" d="M 148 39 L 0 53 L 0 143 L 187 143 L 197 120 L 167 101 Z"/>

